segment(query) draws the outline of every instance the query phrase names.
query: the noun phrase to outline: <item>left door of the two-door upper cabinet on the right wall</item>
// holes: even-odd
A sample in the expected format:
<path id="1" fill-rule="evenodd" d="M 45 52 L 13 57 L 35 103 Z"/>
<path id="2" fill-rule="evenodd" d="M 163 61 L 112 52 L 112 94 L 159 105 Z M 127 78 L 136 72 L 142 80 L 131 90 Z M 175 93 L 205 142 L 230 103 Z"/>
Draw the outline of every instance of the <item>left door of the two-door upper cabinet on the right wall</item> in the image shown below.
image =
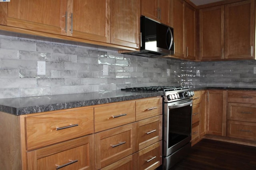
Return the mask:
<path id="1" fill-rule="evenodd" d="M 224 6 L 200 10 L 200 59 L 224 59 Z"/>

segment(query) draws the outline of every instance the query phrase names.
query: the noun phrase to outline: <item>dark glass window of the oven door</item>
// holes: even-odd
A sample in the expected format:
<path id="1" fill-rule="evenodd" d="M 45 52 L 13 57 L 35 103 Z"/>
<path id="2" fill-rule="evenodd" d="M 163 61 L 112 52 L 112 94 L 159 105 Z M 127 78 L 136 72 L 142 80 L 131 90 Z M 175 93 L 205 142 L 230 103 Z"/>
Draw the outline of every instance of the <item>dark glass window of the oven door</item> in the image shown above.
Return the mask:
<path id="1" fill-rule="evenodd" d="M 192 106 L 169 109 L 168 148 L 191 136 Z"/>

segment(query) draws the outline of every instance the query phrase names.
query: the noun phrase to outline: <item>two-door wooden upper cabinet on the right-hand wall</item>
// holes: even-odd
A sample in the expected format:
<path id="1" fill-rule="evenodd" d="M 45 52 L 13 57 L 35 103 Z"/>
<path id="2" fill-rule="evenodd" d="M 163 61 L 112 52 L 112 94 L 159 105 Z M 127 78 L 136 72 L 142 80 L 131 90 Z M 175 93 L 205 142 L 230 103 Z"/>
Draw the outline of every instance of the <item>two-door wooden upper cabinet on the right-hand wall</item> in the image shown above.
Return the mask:
<path id="1" fill-rule="evenodd" d="M 200 59 L 254 59 L 255 0 L 200 10 Z"/>

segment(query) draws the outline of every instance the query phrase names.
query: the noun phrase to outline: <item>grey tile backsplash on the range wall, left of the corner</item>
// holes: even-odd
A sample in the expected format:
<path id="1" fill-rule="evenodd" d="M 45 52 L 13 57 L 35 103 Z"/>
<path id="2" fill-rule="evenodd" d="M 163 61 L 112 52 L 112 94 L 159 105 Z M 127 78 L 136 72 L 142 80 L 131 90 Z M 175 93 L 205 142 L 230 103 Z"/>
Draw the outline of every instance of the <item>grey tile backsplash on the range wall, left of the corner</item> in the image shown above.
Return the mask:
<path id="1" fill-rule="evenodd" d="M 46 74 L 37 74 L 37 61 Z M 181 61 L 119 54 L 97 46 L 0 35 L 0 98 L 178 86 Z"/>

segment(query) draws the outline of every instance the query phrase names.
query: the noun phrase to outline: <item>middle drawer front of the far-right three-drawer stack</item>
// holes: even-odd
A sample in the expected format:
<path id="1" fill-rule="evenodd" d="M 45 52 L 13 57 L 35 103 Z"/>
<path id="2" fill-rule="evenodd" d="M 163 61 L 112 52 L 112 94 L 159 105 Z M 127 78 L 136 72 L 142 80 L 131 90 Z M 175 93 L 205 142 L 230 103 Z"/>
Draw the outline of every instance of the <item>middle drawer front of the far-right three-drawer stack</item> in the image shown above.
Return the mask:
<path id="1" fill-rule="evenodd" d="M 256 105 L 228 103 L 228 119 L 256 123 Z"/>

